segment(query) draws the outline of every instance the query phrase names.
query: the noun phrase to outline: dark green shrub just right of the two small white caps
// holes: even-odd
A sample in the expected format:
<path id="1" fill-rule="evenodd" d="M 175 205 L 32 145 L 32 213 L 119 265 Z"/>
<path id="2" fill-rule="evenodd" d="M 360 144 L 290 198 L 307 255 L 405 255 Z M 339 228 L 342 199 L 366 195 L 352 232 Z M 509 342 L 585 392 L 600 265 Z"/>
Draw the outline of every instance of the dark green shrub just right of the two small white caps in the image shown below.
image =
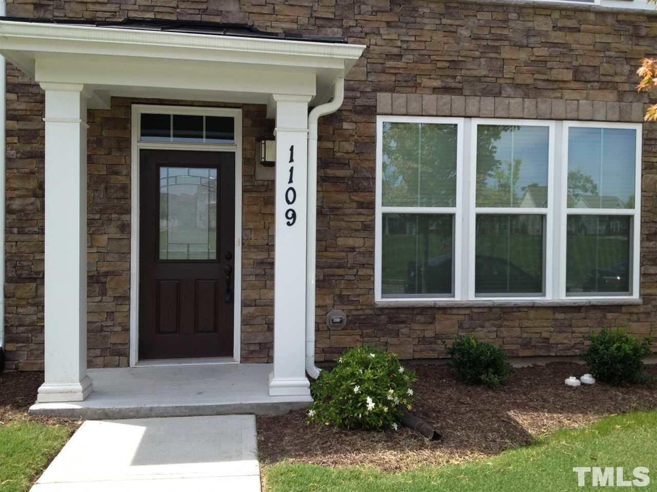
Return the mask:
<path id="1" fill-rule="evenodd" d="M 650 338 L 639 341 L 616 328 L 603 328 L 591 334 L 591 346 L 581 358 L 589 365 L 595 379 L 616 386 L 646 382 L 643 358 L 650 355 Z"/>

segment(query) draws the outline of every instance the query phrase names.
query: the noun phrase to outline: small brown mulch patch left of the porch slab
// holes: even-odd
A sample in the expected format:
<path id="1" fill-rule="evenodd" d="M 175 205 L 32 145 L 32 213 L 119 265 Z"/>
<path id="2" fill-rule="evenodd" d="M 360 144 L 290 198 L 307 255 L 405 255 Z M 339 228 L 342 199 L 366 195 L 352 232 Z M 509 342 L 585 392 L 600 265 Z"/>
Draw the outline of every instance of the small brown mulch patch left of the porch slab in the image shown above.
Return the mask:
<path id="1" fill-rule="evenodd" d="M 32 420 L 43 425 L 64 425 L 76 430 L 81 421 L 28 415 L 30 405 L 37 399 L 37 390 L 43 382 L 41 372 L 0 373 L 0 425 L 12 420 Z"/>

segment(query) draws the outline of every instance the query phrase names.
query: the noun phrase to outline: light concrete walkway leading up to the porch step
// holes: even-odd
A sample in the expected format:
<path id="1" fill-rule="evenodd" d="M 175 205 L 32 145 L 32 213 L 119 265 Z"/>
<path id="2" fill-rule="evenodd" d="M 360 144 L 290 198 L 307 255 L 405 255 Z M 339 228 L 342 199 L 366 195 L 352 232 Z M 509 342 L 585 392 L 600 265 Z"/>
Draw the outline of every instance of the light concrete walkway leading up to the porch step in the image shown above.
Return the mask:
<path id="1" fill-rule="evenodd" d="M 260 492 L 253 415 L 82 424 L 32 492 Z"/>

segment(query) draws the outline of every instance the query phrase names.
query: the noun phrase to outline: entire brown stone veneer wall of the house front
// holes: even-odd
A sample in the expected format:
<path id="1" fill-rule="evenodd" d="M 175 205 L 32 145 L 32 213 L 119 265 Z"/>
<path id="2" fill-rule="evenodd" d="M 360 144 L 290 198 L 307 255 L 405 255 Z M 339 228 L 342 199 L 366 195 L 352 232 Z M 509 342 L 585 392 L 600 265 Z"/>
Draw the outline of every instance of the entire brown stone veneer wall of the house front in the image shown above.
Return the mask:
<path id="1" fill-rule="evenodd" d="M 317 348 L 355 344 L 437 358 L 440 340 L 474 331 L 510 355 L 576 355 L 585 335 L 622 325 L 657 335 L 656 127 L 644 127 L 641 306 L 380 307 L 373 302 L 375 120 L 380 114 L 641 121 L 639 60 L 657 52 L 641 12 L 424 0 L 9 0 L 8 15 L 240 22 L 268 31 L 344 35 L 368 46 L 342 110 L 320 121 Z M 43 94 L 9 67 L 7 350 L 10 369 L 43 367 Z M 654 101 L 653 101 L 654 102 Z M 127 363 L 129 100 L 89 115 L 89 365 Z M 273 190 L 256 182 L 255 138 L 271 130 L 244 106 L 242 360 L 271 360 Z M 265 130 L 266 129 L 266 130 Z M 384 304 L 382 305 L 384 306 Z M 344 309 L 344 329 L 325 313 Z"/>

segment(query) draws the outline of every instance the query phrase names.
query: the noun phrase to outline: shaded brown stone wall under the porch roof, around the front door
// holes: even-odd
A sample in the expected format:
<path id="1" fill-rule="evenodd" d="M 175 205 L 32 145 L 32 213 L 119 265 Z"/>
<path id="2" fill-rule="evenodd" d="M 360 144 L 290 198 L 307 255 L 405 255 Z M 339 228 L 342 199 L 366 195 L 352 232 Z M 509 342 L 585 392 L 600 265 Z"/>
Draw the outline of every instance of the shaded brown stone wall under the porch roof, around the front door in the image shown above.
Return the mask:
<path id="1" fill-rule="evenodd" d="M 43 94 L 20 72 L 12 81 L 33 91 L 12 104 L 7 172 L 7 367 L 43 370 Z M 13 78 L 16 77 L 15 80 Z M 13 86 L 14 90 L 15 85 Z M 87 365 L 127 367 L 130 321 L 131 104 L 199 106 L 193 101 L 112 98 L 87 122 Z M 205 103 L 203 106 L 217 106 Z M 256 139 L 273 124 L 261 105 L 242 108 L 242 354 L 267 361 L 273 340 L 273 182 L 255 179 Z M 16 113 L 16 108 L 22 112 Z M 29 112 L 28 112 L 29 108 Z M 9 118 L 12 116 L 10 115 Z M 11 131 L 10 131 L 11 129 Z M 25 144 L 30 141 L 30 148 Z M 18 139 L 18 142 L 15 140 Z M 9 162 L 11 160 L 11 163 Z M 270 237 L 271 236 L 271 237 Z M 269 316 L 258 316 L 258 311 Z"/>

